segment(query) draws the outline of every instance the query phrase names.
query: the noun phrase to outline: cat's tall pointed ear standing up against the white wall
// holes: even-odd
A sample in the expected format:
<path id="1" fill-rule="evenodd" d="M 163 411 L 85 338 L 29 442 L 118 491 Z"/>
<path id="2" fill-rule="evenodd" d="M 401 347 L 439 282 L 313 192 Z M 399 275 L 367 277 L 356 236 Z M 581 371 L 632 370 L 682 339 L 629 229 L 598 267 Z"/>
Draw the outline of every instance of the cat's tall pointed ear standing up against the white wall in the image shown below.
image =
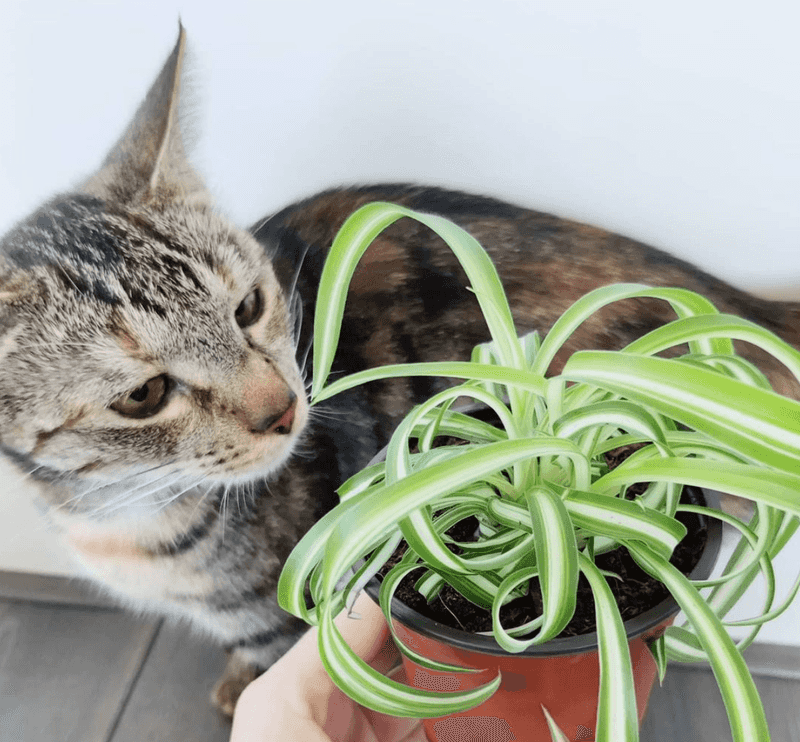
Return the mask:
<path id="1" fill-rule="evenodd" d="M 186 32 L 100 169 L 84 183 L 85 193 L 116 203 L 209 202 L 200 177 L 186 157 L 181 129 L 181 88 Z"/>

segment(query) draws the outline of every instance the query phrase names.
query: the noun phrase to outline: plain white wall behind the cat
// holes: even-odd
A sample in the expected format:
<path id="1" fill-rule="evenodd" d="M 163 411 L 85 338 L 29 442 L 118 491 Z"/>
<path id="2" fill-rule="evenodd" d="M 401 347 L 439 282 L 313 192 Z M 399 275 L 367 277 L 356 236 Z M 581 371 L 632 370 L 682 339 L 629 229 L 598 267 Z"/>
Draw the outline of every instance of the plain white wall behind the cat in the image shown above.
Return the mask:
<path id="1" fill-rule="evenodd" d="M 180 14 L 197 164 L 239 223 L 333 184 L 430 182 L 800 296 L 798 7 L 5 0 L 0 231 L 99 163 Z M 3 521 L 26 532 L 13 512 Z M 785 561 L 800 564 L 800 544 Z M 798 620 L 800 609 L 767 640 L 800 643 Z"/>

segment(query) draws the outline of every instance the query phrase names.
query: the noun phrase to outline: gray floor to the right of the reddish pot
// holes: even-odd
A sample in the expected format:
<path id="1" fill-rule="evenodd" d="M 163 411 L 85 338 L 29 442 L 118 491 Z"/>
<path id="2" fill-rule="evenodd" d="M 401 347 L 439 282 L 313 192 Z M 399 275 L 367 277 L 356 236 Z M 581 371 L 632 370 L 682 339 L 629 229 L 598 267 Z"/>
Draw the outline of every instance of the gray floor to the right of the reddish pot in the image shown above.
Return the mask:
<path id="1" fill-rule="evenodd" d="M 773 742 L 800 742 L 800 683 L 756 677 Z M 730 725 L 708 669 L 670 666 L 653 689 L 641 742 L 729 742 Z"/>

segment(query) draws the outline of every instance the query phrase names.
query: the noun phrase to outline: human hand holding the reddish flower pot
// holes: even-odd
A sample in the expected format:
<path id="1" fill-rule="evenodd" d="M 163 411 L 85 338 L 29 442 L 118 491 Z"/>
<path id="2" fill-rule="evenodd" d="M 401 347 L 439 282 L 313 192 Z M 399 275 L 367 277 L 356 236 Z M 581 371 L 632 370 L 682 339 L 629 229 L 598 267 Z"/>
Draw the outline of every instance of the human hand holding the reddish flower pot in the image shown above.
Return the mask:
<path id="1" fill-rule="evenodd" d="M 379 672 L 399 654 L 383 613 L 362 594 L 336 624 L 345 641 Z M 402 669 L 394 679 L 402 680 Z M 230 742 L 425 742 L 422 722 L 397 719 L 359 706 L 328 677 L 317 651 L 317 629 L 245 688 L 233 716 Z"/>

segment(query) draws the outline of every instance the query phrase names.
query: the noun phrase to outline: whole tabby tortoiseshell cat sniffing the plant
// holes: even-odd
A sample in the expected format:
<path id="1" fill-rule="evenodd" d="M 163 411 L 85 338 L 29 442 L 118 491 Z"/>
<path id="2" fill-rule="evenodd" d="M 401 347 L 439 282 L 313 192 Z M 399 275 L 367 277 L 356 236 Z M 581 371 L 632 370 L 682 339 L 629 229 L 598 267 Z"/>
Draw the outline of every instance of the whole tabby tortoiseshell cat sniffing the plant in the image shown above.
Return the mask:
<path id="1" fill-rule="evenodd" d="M 185 33 L 101 167 L 0 242 L 0 453 L 35 485 L 64 543 L 135 611 L 188 619 L 229 652 L 214 701 L 238 694 L 305 625 L 275 601 L 281 564 L 445 382 L 392 380 L 323 409 L 306 394 L 327 247 L 362 204 L 448 217 L 487 247 L 520 332 L 618 281 L 683 286 L 800 346 L 800 305 L 749 296 L 656 249 L 493 198 L 385 184 L 326 191 L 249 231 L 225 221 L 180 126 Z M 630 300 L 565 352 L 619 348 L 671 319 Z M 357 271 L 334 373 L 466 358 L 486 339 L 441 241 L 401 220 Z M 793 378 L 752 347 L 775 388 Z M 556 358 L 554 369 L 563 362 Z"/>

